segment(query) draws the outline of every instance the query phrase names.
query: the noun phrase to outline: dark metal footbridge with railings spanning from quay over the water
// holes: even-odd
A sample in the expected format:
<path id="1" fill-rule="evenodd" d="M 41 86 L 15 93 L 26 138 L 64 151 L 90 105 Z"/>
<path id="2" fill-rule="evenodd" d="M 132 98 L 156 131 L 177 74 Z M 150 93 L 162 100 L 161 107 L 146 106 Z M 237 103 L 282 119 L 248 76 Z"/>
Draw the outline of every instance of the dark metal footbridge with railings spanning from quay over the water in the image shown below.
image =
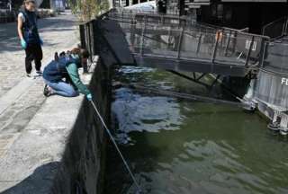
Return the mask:
<path id="1" fill-rule="evenodd" d="M 108 64 L 233 76 L 257 70 L 269 40 L 186 17 L 116 9 L 80 32 L 82 46 Z"/>

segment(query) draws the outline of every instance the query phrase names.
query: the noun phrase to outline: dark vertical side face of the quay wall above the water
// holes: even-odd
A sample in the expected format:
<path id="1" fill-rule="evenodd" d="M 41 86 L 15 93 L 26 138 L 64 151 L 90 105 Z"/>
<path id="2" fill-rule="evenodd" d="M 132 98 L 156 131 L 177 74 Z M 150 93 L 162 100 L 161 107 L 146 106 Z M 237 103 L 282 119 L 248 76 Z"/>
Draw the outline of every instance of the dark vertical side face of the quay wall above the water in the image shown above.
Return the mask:
<path id="1" fill-rule="evenodd" d="M 100 63 L 90 83 L 96 105 L 103 118 L 110 116 L 109 71 Z M 101 193 L 104 172 L 106 134 L 94 116 L 90 102 L 83 101 L 67 145 L 52 193 Z"/>

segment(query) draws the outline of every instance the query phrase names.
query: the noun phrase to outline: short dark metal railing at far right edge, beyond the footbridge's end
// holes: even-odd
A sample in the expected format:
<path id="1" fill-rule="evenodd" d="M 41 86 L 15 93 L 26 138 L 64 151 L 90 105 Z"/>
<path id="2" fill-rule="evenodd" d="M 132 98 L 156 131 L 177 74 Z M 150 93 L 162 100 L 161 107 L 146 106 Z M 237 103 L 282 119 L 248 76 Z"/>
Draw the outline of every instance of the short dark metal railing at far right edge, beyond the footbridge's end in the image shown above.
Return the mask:
<path id="1" fill-rule="evenodd" d="M 279 39 L 288 35 L 288 16 L 270 22 L 263 27 L 262 34 L 271 39 Z"/>

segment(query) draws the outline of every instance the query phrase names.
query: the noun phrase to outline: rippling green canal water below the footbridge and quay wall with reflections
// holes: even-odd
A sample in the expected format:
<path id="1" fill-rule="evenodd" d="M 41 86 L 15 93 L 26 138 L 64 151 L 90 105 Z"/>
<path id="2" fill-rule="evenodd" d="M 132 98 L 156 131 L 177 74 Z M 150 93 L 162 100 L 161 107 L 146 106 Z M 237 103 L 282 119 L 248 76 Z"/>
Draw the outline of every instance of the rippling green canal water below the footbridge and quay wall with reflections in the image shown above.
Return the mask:
<path id="1" fill-rule="evenodd" d="M 229 98 L 219 85 L 150 68 L 123 66 L 114 81 Z M 145 193 L 288 193 L 288 144 L 266 125 L 231 105 L 113 90 L 114 137 Z M 104 193 L 136 193 L 112 144 L 106 161 Z"/>

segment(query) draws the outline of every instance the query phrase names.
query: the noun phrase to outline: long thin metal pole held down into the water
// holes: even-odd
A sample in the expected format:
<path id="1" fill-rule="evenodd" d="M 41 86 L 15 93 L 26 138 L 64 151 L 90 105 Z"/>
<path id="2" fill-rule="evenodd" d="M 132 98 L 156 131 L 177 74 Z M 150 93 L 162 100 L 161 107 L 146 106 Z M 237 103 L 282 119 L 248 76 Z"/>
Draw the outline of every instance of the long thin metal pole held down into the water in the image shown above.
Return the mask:
<path id="1" fill-rule="evenodd" d="M 124 163 L 127 171 L 130 173 L 130 177 L 132 178 L 132 180 L 134 181 L 134 183 L 135 183 L 135 185 L 136 185 L 136 187 L 137 187 L 137 192 L 136 192 L 136 193 L 143 193 L 143 191 L 141 190 L 138 182 L 136 181 L 136 178 L 135 178 L 133 172 L 130 170 L 130 167 L 129 167 L 128 163 L 126 162 L 123 154 L 121 154 L 120 148 L 118 147 L 118 145 L 117 145 L 114 137 L 112 137 L 112 133 L 110 132 L 109 128 L 106 126 L 106 124 L 105 124 L 105 122 L 104 122 L 104 120 L 103 120 L 103 117 L 101 116 L 99 110 L 97 110 L 97 107 L 96 107 L 96 105 L 94 104 L 94 101 L 91 101 L 91 104 L 92 104 L 92 106 L 94 107 L 94 110 L 96 111 L 98 118 L 101 120 L 101 122 L 102 122 L 102 124 L 103 124 L 103 127 L 105 128 L 108 136 L 111 138 L 113 145 L 115 145 L 115 148 L 116 148 L 118 154 L 120 154 L 121 160 L 123 161 L 123 163 Z"/>

